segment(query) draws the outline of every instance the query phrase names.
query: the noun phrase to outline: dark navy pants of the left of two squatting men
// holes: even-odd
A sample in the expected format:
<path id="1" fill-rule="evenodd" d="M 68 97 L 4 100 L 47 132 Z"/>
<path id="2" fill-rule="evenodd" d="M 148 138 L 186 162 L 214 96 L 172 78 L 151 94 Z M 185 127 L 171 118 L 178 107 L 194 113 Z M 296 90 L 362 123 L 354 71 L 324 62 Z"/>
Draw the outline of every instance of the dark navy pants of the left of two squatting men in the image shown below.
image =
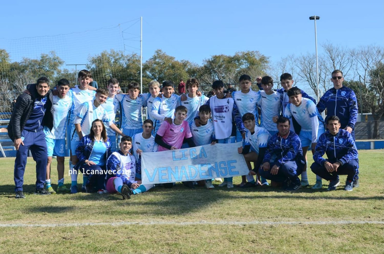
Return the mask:
<path id="1" fill-rule="evenodd" d="M 295 161 L 290 161 L 281 165 L 277 175 L 272 175 L 271 168 L 273 167 L 273 165 L 275 164 L 271 164 L 271 167 L 268 171 L 264 171 L 263 169 L 260 168 L 259 169 L 260 176 L 275 182 L 284 182 L 287 179 L 295 181 L 298 179 L 298 175 L 300 175 L 301 172 L 303 172 L 303 168 L 304 168 L 304 165 L 300 164 L 300 162 L 296 164 Z"/>

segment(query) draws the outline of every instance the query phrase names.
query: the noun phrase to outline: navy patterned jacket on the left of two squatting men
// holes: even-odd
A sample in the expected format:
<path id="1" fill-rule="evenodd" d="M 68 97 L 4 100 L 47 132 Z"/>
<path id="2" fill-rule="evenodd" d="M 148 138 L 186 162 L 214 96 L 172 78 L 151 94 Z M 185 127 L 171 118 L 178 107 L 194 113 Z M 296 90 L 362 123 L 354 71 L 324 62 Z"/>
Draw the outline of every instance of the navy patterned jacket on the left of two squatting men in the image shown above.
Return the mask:
<path id="1" fill-rule="evenodd" d="M 271 159 L 278 167 L 289 161 L 305 164 L 299 136 L 293 131 L 286 138 L 279 133 L 273 135 L 268 142 L 263 163 L 270 162 Z"/>

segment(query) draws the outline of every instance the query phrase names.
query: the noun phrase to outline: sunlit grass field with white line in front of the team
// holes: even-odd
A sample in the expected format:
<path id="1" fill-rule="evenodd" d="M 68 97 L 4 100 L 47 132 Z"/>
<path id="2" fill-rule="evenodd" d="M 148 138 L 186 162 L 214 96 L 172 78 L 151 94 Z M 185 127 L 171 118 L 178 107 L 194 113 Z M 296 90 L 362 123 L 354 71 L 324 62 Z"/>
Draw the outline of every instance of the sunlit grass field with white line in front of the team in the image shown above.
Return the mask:
<path id="1" fill-rule="evenodd" d="M 342 176 L 333 192 L 325 180 L 321 191 L 295 193 L 178 184 L 121 200 L 33 195 L 35 165 L 28 158 L 26 198 L 16 200 L 14 158 L 1 158 L 0 253 L 383 253 L 384 150 L 359 151 L 359 161 L 360 187 L 352 192 L 344 191 Z M 314 184 L 312 172 L 308 178 Z M 68 168 L 65 180 L 69 186 Z"/>

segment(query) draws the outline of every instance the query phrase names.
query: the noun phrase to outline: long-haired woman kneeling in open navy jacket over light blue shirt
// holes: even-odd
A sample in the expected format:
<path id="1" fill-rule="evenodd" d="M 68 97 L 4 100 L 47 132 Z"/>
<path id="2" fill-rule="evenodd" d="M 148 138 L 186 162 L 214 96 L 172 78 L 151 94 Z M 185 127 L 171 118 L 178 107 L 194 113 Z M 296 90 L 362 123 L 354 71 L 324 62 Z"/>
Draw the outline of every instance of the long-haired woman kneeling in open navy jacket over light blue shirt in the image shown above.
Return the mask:
<path id="1" fill-rule="evenodd" d="M 79 162 L 74 170 L 83 173 L 85 191 L 92 193 L 104 189 L 106 162 L 111 155 L 110 141 L 104 123 L 100 119 L 92 122 L 91 131 L 81 138 L 76 155 Z"/>

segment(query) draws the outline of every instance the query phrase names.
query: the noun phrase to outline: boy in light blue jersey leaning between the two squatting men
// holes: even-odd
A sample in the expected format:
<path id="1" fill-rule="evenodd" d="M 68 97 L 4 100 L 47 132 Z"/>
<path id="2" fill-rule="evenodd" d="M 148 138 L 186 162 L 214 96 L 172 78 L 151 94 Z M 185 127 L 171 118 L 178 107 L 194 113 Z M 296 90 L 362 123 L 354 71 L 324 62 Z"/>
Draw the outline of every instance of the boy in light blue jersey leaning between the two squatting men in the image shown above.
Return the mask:
<path id="1" fill-rule="evenodd" d="M 303 148 L 303 156 L 305 157 L 305 161 L 307 161 L 308 147 L 311 146 L 312 153 L 314 153 L 318 138 L 325 132 L 324 121 L 316 108 L 316 104 L 310 99 L 302 97 L 300 88 L 292 87 L 288 90 L 287 95 L 290 98 L 290 103 L 285 108 L 284 116 L 288 119 L 292 117 L 295 118 L 301 126 L 298 135 Z M 301 187 L 308 185 L 306 163 L 301 173 Z M 316 175 L 316 184 L 313 188 L 318 189 L 322 187 L 321 177 Z"/>

